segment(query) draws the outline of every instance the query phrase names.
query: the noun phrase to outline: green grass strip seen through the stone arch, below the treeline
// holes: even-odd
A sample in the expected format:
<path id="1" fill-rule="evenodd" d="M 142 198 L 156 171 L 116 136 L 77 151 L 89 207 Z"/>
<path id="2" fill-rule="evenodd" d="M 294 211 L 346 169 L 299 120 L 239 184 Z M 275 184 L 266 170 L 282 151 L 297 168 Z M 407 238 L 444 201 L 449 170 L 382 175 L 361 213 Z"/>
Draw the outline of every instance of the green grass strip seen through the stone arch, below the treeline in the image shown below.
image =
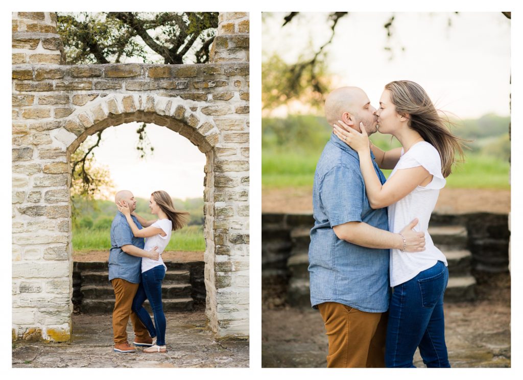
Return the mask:
<path id="1" fill-rule="evenodd" d="M 73 250 L 109 250 L 111 247 L 110 230 L 73 229 Z M 166 251 L 205 251 L 203 227 L 190 225 L 179 231 L 173 231 Z"/>

